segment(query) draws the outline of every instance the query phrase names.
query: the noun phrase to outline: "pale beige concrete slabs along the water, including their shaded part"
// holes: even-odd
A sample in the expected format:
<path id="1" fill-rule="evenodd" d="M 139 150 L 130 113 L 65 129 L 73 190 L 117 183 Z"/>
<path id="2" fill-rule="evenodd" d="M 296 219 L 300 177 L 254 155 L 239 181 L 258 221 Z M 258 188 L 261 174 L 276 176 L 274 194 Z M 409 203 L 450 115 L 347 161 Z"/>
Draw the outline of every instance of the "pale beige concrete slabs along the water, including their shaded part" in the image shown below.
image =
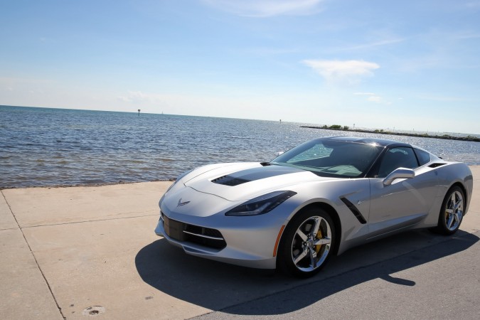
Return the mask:
<path id="1" fill-rule="evenodd" d="M 471 170 L 474 196 L 461 235 L 480 230 L 480 166 Z M 2 318 L 186 319 L 308 282 L 198 259 L 166 244 L 154 227 L 170 184 L 1 191 Z M 445 239 L 414 231 L 362 246 L 334 259 L 319 279 Z"/>

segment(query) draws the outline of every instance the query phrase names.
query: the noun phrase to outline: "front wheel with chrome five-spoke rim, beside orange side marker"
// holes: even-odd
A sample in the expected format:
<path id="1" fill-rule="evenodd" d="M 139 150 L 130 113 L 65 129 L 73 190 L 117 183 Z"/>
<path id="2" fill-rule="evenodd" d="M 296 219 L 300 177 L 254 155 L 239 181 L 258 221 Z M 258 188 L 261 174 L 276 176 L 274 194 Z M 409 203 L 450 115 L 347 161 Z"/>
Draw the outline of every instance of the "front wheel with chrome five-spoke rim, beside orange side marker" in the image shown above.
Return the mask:
<path id="1" fill-rule="evenodd" d="M 300 212 L 282 236 L 277 267 L 295 277 L 314 276 L 329 260 L 335 241 L 334 222 L 329 213 L 321 208 Z"/>

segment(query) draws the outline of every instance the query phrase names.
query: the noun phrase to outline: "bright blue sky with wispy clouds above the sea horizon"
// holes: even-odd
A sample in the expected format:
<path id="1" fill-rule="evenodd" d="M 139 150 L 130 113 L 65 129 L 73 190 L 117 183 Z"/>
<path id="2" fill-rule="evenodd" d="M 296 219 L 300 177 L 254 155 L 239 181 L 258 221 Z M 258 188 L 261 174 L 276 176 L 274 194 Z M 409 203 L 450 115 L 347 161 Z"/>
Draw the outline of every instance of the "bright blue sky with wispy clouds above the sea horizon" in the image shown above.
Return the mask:
<path id="1" fill-rule="evenodd" d="M 480 134 L 480 0 L 0 0 L 0 105 Z"/>

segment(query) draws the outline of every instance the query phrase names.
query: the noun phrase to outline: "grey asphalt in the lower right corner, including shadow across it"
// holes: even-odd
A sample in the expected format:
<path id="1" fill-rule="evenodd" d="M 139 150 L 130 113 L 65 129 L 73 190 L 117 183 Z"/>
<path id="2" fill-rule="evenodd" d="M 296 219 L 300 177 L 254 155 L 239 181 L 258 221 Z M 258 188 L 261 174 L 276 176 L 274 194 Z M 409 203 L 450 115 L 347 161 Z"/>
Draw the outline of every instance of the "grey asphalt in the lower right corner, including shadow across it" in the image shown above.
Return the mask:
<path id="1" fill-rule="evenodd" d="M 480 232 L 194 319 L 472 319 L 480 314 Z M 341 257 L 339 257 L 341 260 Z M 338 261 L 337 261 L 338 263 Z"/>

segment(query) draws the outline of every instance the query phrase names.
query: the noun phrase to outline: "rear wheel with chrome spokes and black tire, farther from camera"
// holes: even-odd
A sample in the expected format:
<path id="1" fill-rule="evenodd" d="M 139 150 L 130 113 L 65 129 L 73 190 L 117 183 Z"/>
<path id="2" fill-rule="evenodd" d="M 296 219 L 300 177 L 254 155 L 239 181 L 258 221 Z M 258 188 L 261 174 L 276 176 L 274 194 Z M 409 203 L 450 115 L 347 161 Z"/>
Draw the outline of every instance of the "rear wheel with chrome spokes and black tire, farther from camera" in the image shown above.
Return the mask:
<path id="1" fill-rule="evenodd" d="M 464 218 L 464 191 L 459 186 L 453 186 L 445 196 L 438 217 L 435 232 L 442 235 L 453 235 L 457 232 Z"/>

